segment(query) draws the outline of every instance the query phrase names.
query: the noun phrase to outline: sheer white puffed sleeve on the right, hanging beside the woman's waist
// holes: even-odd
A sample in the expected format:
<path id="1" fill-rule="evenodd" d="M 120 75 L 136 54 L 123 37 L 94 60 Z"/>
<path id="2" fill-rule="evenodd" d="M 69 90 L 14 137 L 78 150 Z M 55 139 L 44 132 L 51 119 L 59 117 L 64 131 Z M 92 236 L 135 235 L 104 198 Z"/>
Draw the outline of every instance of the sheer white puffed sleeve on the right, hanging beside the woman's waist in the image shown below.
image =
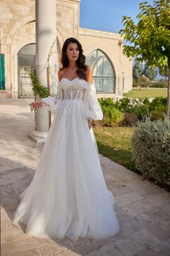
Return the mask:
<path id="1" fill-rule="evenodd" d="M 99 101 L 97 101 L 96 88 L 94 84 L 89 84 L 86 87 L 84 93 L 84 111 L 86 118 L 94 120 L 102 120 L 103 118 L 102 108 L 99 105 Z"/>

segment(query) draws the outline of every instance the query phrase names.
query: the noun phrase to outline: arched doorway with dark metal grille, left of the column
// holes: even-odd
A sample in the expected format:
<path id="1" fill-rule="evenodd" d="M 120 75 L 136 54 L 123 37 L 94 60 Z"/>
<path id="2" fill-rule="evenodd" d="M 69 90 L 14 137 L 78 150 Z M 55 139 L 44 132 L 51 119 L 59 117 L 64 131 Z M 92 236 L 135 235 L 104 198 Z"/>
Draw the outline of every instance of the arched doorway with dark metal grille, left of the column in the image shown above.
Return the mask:
<path id="1" fill-rule="evenodd" d="M 23 46 L 18 54 L 18 98 L 33 98 L 29 72 L 35 69 L 35 43 Z"/>

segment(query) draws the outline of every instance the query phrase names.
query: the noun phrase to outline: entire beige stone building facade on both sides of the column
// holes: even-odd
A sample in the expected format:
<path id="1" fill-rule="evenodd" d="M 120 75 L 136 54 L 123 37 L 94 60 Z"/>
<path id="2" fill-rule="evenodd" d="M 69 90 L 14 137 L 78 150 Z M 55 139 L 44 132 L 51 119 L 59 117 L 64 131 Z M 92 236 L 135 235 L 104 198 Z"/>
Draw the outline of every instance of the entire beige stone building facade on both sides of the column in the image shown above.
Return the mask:
<path id="1" fill-rule="evenodd" d="M 99 97 L 121 97 L 132 88 L 132 61 L 122 54 L 122 38 L 117 33 L 107 33 L 79 27 L 79 0 L 56 0 L 57 52 L 68 37 L 78 38 L 87 56 L 101 50 L 115 71 L 115 93 Z M 48 22 L 48 21 L 47 21 Z M 0 0 L 1 54 L 5 56 L 5 90 L 3 98 L 18 98 L 18 51 L 35 43 L 35 1 Z M 60 63 L 58 64 L 60 66 Z"/>

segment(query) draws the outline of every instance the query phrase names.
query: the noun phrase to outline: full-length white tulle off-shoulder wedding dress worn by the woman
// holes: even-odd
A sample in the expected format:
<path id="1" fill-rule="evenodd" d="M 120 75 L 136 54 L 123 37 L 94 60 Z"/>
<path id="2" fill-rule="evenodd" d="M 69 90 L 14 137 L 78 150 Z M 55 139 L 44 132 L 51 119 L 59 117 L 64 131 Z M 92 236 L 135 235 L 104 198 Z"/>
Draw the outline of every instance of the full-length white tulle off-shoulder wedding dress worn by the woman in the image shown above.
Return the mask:
<path id="1" fill-rule="evenodd" d="M 35 176 L 22 192 L 14 221 L 27 234 L 75 241 L 114 236 L 120 231 L 114 197 L 104 182 L 93 129 L 102 119 L 94 85 L 62 78 L 56 97 L 43 98 L 55 113 Z"/>

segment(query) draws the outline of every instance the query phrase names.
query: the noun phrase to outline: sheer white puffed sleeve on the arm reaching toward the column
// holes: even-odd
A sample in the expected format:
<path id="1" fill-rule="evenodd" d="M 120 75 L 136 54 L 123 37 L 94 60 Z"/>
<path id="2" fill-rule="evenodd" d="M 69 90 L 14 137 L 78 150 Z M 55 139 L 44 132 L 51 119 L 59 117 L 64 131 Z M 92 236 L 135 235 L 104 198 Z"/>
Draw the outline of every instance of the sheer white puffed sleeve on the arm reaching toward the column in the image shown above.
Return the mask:
<path id="1" fill-rule="evenodd" d="M 43 104 L 49 106 L 49 110 L 52 113 L 55 113 L 58 106 L 58 102 L 63 100 L 63 90 L 58 86 L 56 96 L 48 96 L 47 98 L 42 98 L 41 101 Z"/>

